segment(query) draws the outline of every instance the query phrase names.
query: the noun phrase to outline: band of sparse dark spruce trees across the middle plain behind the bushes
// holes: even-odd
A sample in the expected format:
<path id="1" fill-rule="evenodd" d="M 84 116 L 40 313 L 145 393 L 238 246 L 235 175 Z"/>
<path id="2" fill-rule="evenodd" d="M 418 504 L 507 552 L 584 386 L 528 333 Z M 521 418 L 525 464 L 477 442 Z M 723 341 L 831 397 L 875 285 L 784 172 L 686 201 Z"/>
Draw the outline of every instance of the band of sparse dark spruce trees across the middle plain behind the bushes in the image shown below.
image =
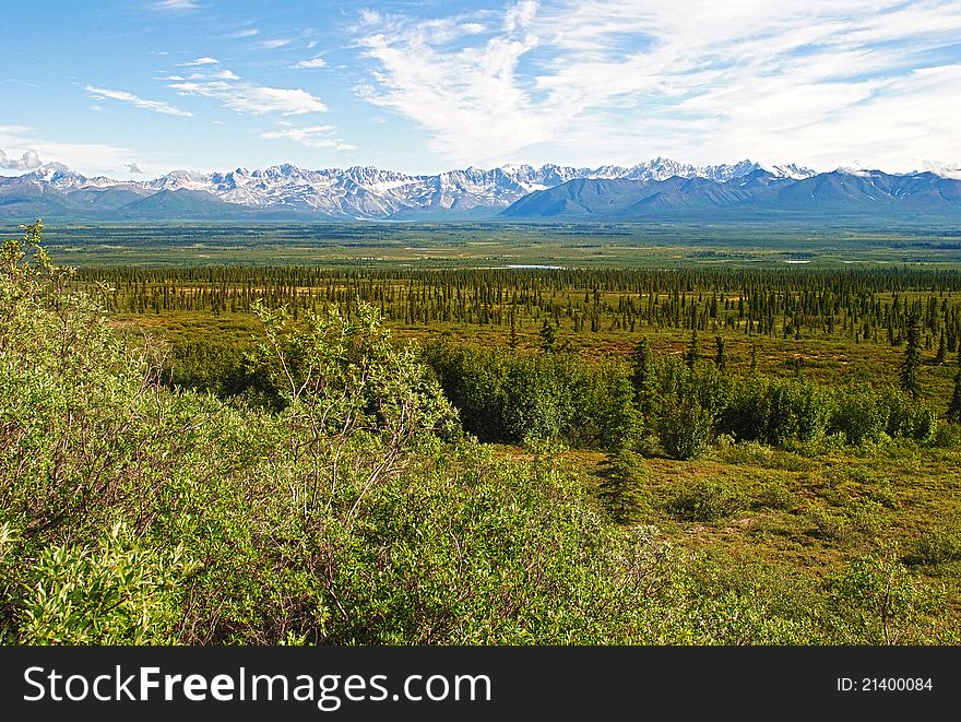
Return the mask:
<path id="1" fill-rule="evenodd" d="M 111 312 L 249 313 L 256 301 L 295 318 L 360 303 L 408 326 L 539 328 L 574 334 L 644 329 L 719 330 L 774 338 L 845 338 L 899 346 L 909 319 L 925 348 L 961 344 L 958 274 L 890 270 L 444 270 L 309 267 L 85 269 L 74 283 L 106 284 Z"/>

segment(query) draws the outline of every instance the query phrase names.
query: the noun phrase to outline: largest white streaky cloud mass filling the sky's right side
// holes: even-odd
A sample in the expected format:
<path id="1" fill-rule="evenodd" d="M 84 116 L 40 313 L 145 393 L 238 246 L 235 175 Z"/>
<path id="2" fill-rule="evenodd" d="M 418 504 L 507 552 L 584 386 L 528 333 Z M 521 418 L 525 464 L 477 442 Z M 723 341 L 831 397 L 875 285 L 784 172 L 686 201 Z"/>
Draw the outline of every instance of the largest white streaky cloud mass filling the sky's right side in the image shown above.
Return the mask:
<path id="1" fill-rule="evenodd" d="M 356 36 L 357 92 L 450 161 L 961 159 L 958 0 L 523 0 Z"/>

